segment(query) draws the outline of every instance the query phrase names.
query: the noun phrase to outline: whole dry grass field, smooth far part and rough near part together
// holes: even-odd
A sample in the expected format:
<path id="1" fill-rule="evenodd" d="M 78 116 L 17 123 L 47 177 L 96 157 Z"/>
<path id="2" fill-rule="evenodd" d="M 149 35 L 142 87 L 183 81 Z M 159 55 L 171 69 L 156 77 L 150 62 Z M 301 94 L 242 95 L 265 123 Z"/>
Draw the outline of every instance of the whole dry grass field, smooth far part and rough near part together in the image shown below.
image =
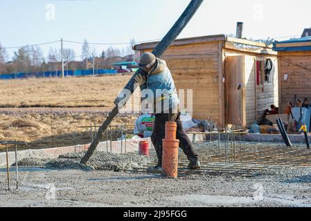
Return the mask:
<path id="1" fill-rule="evenodd" d="M 91 122 L 102 124 L 107 113 L 100 111 L 103 108 L 110 110 L 114 106 L 116 95 L 131 77 L 132 75 L 109 75 L 0 81 L 0 108 L 4 108 L 0 114 L 0 140 L 28 142 L 29 145 L 23 148 L 88 144 L 91 142 L 90 129 L 79 126 L 89 126 Z M 30 108 L 27 112 L 15 113 L 10 110 L 26 107 Z M 52 114 L 48 111 L 34 111 L 34 107 L 73 108 L 74 111 L 60 113 L 55 108 Z M 91 107 L 103 108 L 81 112 L 81 107 L 87 107 L 86 110 Z M 114 124 L 133 124 L 135 119 L 134 115 L 119 116 Z M 0 151 L 1 148 L 3 146 L 0 146 Z"/>

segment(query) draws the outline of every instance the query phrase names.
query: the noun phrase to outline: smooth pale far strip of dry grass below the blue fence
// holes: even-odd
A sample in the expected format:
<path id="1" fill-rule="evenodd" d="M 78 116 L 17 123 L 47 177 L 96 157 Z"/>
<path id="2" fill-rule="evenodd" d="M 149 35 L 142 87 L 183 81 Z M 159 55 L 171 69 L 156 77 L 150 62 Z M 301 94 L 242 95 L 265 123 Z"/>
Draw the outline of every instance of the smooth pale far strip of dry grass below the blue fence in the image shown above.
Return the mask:
<path id="1" fill-rule="evenodd" d="M 0 81 L 0 107 L 107 107 L 132 75 Z"/>

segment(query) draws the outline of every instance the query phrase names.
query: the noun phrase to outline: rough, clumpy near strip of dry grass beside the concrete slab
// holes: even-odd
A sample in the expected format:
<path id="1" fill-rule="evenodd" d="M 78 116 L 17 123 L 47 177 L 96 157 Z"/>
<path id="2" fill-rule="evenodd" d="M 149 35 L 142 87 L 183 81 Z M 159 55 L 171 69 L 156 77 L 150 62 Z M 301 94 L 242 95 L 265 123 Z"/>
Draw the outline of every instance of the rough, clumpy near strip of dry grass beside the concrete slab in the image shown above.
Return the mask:
<path id="1" fill-rule="evenodd" d="M 106 116 L 98 113 L 71 113 L 66 115 L 52 115 L 40 113 L 25 113 L 20 115 L 0 115 L 0 140 L 19 140 L 28 142 L 28 146 L 21 148 L 49 148 L 56 146 L 71 146 L 88 144 L 91 142 L 91 123 L 100 125 Z M 114 124 L 133 124 L 136 118 L 116 117 Z M 51 124 L 53 122 L 53 124 Z M 53 135 L 52 135 L 53 125 Z M 128 126 L 128 133 L 132 133 L 133 126 Z M 121 131 L 113 131 L 114 138 Z M 118 137 L 121 137 L 119 135 Z M 3 146 L 0 146 L 3 149 Z"/>

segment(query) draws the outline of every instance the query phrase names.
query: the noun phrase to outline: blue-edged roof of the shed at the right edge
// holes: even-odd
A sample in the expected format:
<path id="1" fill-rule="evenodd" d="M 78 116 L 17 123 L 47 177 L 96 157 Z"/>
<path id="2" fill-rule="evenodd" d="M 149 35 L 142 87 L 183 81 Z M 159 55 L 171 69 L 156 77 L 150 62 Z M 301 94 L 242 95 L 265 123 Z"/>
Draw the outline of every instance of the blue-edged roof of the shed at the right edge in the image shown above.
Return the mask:
<path id="1" fill-rule="evenodd" d="M 276 51 L 305 51 L 311 50 L 311 37 L 301 37 L 286 41 L 274 42 L 273 50 Z"/>

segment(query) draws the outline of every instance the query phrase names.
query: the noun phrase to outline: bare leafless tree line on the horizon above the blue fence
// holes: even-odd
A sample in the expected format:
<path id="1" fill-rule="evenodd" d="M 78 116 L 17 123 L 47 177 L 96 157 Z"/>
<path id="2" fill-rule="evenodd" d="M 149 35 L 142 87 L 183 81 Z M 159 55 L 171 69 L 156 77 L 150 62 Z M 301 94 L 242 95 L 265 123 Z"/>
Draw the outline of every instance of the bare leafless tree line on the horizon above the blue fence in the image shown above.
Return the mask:
<path id="1" fill-rule="evenodd" d="M 76 55 L 72 48 L 63 48 L 63 53 L 61 49 L 50 48 L 47 57 L 44 57 L 40 46 L 24 46 L 15 51 L 13 57 L 9 59 L 6 48 L 0 42 L 0 74 L 62 70 L 62 54 L 65 70 L 85 70 L 92 66 L 96 69 L 110 69 L 113 68 L 113 62 L 135 60 L 132 50 L 134 44 L 135 40 L 131 39 L 129 46 L 121 49 L 110 46 L 98 55 L 96 48 L 91 47 L 85 39 L 81 55 Z"/>

